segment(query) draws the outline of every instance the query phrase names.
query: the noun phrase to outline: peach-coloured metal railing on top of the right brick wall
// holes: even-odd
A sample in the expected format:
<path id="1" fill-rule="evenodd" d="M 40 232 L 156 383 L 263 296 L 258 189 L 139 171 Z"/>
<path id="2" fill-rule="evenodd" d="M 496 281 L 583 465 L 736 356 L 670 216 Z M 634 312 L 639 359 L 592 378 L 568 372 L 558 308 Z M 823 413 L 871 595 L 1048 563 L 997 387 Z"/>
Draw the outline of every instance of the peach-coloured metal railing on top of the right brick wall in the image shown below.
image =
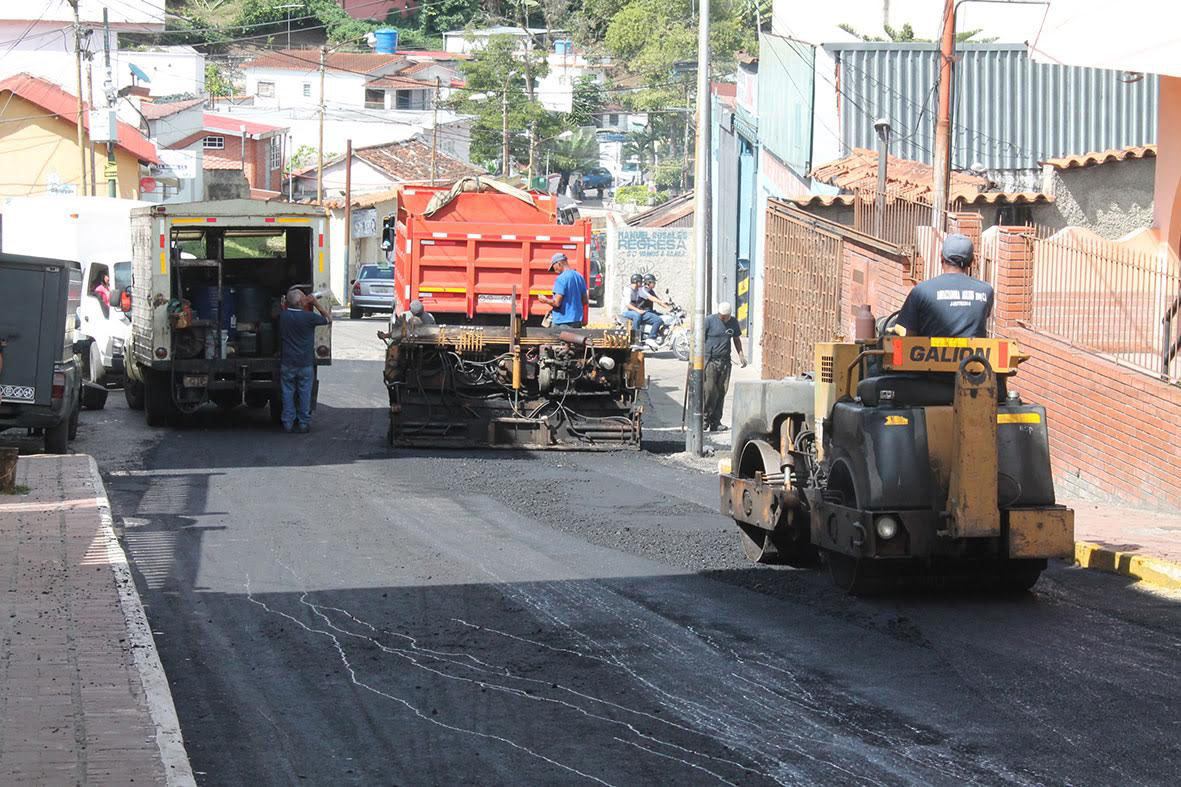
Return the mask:
<path id="1" fill-rule="evenodd" d="M 1181 384 L 1181 262 L 1077 233 L 1032 228 L 1030 327 Z"/>

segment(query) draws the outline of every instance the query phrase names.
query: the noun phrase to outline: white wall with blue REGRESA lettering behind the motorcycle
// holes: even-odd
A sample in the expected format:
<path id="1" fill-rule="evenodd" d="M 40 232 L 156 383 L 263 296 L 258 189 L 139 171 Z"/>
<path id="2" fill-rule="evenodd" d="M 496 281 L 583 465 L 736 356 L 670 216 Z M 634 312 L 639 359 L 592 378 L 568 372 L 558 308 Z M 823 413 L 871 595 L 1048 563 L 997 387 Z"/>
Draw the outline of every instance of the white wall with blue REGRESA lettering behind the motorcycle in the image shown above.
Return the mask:
<path id="1" fill-rule="evenodd" d="M 624 286 L 633 273 L 653 273 L 657 294 L 665 290 L 685 308 L 693 304 L 693 229 L 691 227 L 607 226 L 603 305 L 611 316 L 621 310 Z"/>

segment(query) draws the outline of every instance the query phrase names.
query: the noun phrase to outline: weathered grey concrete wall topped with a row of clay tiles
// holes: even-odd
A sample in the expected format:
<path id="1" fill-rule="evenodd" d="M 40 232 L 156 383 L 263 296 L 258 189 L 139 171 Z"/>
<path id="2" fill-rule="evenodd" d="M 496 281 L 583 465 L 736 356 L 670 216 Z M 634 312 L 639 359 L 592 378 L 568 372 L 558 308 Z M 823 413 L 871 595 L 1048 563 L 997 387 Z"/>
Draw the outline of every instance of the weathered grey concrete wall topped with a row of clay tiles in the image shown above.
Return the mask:
<path id="1" fill-rule="evenodd" d="M 1087 227 L 1113 240 L 1151 227 L 1155 174 L 1155 158 L 1053 170 L 1055 201 L 1039 207 L 1037 221 L 1052 229 Z"/>

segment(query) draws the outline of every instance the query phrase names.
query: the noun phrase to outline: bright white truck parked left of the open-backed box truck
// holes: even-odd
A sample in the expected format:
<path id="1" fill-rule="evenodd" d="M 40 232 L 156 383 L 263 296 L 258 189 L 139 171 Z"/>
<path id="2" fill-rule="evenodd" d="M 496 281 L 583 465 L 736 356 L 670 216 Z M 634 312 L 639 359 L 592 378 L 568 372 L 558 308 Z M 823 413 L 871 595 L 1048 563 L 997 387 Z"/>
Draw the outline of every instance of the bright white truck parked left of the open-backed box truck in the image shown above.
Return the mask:
<path id="1" fill-rule="evenodd" d="M 116 197 L 45 195 L 0 204 L 0 239 L 8 254 L 74 260 L 81 266 L 78 338 L 84 347 L 83 404 L 100 409 L 105 389 L 123 382 L 131 318 L 122 306 L 131 287 L 131 212 L 151 204 Z M 110 304 L 96 288 L 109 277 Z"/>

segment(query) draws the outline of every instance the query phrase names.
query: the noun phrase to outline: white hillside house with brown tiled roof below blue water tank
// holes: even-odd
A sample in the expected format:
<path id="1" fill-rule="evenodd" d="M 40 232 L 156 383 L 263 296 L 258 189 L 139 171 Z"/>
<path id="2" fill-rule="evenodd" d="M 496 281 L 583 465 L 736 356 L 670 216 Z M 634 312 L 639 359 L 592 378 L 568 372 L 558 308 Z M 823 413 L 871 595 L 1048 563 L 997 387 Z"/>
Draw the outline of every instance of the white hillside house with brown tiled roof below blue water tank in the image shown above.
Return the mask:
<path id="1" fill-rule="evenodd" d="M 246 92 L 255 106 L 319 106 L 320 51 L 266 52 L 242 65 Z M 324 97 L 328 106 L 368 110 L 422 110 L 439 86 L 450 92 L 457 74 L 438 63 L 416 63 L 405 53 L 328 52 L 324 59 Z"/>

